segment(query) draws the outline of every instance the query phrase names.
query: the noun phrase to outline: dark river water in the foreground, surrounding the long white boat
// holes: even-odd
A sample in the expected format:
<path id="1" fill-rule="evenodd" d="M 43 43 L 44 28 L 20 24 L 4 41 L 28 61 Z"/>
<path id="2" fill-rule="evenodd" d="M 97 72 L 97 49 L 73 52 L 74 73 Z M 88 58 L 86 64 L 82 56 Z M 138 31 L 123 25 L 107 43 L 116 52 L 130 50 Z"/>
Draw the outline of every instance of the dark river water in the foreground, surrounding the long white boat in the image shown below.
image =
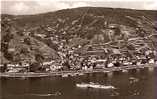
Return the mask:
<path id="1" fill-rule="evenodd" d="M 156 69 L 143 69 L 64 78 L 0 78 L 0 99 L 155 99 L 155 72 Z M 82 82 L 112 85 L 116 89 L 76 87 Z"/>

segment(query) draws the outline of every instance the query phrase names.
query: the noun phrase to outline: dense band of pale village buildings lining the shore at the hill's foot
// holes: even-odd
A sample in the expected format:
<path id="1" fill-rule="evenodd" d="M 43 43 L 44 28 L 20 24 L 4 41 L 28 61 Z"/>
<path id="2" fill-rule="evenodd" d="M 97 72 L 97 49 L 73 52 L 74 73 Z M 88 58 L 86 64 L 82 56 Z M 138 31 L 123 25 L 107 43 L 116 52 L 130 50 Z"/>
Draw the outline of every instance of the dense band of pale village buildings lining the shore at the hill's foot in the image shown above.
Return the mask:
<path id="1" fill-rule="evenodd" d="M 120 66 L 132 66 L 132 65 L 145 65 L 145 64 L 156 64 L 155 51 L 147 50 L 145 53 L 136 53 L 134 57 L 126 56 L 125 54 L 112 53 L 101 54 L 97 51 L 87 51 L 85 55 L 76 53 L 79 47 L 69 47 L 60 45 L 58 55 L 60 59 L 43 61 L 39 68 L 34 69 L 33 72 L 54 72 L 54 71 L 69 71 L 69 70 L 93 70 L 93 69 L 104 69 L 111 67 Z M 93 54 L 94 53 L 94 54 Z M 89 54 L 89 55 L 87 55 Z M 106 56 L 105 56 L 106 55 Z M 1 72 L 30 72 L 31 64 L 3 64 L 0 66 Z M 3 69 L 5 68 L 5 71 Z"/>

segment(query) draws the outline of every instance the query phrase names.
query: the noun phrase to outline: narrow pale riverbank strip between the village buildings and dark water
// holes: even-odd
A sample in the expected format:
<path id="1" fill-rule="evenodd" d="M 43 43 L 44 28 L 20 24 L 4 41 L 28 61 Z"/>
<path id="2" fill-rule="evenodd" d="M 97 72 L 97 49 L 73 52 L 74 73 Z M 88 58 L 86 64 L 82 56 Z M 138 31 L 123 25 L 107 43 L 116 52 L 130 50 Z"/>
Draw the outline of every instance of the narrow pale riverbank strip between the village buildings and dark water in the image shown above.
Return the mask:
<path id="1" fill-rule="evenodd" d="M 78 71 L 56 71 L 56 72 L 46 72 L 46 73 L 34 73 L 34 72 L 26 72 L 26 73 L 0 73 L 0 77 L 11 77 L 11 78 L 29 78 L 29 77 L 50 77 L 50 76 L 79 76 L 86 73 L 94 73 L 94 72 L 114 72 L 114 71 L 128 71 L 130 69 L 154 69 L 156 64 L 144 64 L 144 65 L 132 65 L 132 66 L 121 66 L 121 67 L 112 67 L 112 68 L 104 68 L 104 69 L 93 69 L 93 70 L 78 70 Z"/>

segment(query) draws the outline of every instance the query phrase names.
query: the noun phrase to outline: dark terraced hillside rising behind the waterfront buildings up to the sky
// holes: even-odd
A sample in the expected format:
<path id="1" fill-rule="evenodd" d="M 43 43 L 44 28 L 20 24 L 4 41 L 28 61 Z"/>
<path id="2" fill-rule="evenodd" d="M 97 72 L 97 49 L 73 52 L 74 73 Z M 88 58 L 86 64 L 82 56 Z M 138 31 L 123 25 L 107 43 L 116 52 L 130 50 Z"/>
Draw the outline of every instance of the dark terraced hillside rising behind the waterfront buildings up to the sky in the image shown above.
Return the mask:
<path id="1" fill-rule="evenodd" d="M 58 52 L 72 49 L 81 55 L 104 49 L 133 55 L 157 46 L 156 17 L 157 11 L 98 7 L 2 15 L 1 57 L 11 62 L 58 59 Z"/>

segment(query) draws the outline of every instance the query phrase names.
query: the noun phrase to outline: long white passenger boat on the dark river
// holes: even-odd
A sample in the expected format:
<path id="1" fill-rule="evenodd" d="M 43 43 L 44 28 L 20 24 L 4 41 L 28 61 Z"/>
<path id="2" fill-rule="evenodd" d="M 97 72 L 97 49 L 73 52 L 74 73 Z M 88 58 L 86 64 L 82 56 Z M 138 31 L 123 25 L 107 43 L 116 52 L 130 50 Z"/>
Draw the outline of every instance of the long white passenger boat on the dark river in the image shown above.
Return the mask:
<path id="1" fill-rule="evenodd" d="M 98 88 L 98 89 L 115 89 L 114 86 L 108 85 L 100 85 L 100 84 L 96 84 L 96 83 L 82 83 L 82 84 L 76 84 L 77 87 L 80 88 Z"/>

